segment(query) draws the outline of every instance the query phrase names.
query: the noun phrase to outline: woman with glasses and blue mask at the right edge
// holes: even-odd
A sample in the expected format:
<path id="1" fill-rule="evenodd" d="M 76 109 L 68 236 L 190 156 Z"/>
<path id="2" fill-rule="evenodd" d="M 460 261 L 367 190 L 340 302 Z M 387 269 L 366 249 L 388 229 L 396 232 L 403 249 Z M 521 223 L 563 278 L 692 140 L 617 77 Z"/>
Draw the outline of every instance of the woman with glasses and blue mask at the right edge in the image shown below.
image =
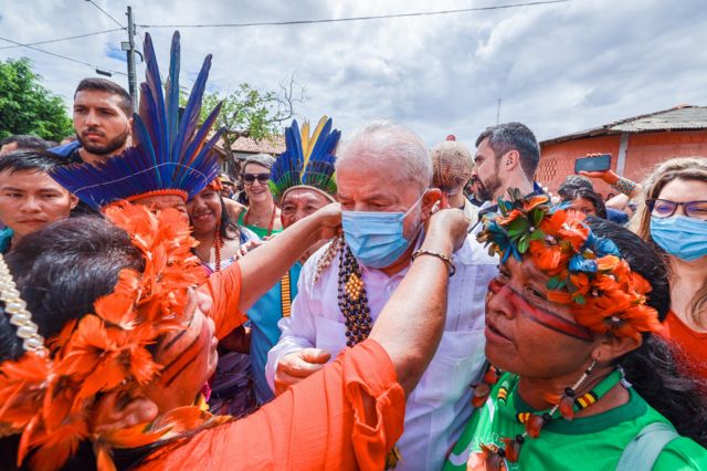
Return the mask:
<path id="1" fill-rule="evenodd" d="M 665 254 L 671 312 L 662 335 L 707 378 L 707 158 L 674 158 L 647 178 L 636 232 Z"/>

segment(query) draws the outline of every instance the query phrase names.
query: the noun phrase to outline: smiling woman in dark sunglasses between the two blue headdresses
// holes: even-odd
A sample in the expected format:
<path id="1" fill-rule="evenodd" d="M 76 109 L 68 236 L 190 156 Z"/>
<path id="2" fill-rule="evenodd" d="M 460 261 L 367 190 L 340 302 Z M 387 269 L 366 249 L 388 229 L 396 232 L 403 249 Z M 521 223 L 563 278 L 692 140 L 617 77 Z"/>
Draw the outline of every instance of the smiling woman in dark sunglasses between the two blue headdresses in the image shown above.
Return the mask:
<path id="1" fill-rule="evenodd" d="M 274 161 L 267 154 L 257 154 L 245 160 L 241 172 L 243 189 L 247 195 L 247 210 L 239 216 L 239 226 L 246 227 L 261 239 L 283 230 L 279 209 L 267 187 Z"/>

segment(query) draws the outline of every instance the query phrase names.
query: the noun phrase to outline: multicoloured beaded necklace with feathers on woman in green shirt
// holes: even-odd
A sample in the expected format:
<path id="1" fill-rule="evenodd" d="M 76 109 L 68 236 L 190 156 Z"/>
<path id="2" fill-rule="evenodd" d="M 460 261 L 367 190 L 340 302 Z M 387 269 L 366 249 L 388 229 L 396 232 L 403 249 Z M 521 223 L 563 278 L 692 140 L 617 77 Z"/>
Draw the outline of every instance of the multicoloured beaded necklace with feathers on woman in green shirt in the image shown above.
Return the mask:
<path id="1" fill-rule="evenodd" d="M 597 404 L 597 401 L 616 386 L 623 377 L 622 373 L 619 369 L 615 369 L 602 379 L 592 390 L 577 397 L 577 388 L 579 388 L 591 375 L 593 367 L 594 364 L 584 370 L 582 377 L 574 383 L 572 387 L 566 388 L 564 394 L 560 396 L 559 401 L 557 401 L 552 408 L 535 412 L 514 410 L 516 421 L 525 426 L 525 431 L 523 433 L 518 433 L 514 438 L 502 437 L 500 442 L 504 443 L 503 447 L 497 447 L 494 443 L 482 443 L 481 448 L 482 453 L 486 459 L 486 469 L 508 469 L 508 462 L 515 463 L 518 461 L 520 447 L 528 437 L 532 439 L 538 438 L 540 436 L 541 428 L 552 420 L 561 418 L 564 420 L 572 420 L 576 412 Z M 484 380 L 486 381 L 487 379 L 490 379 L 497 381 L 498 377 L 499 370 L 492 366 L 484 376 Z M 497 407 L 513 407 L 510 405 L 514 404 L 516 395 L 518 394 L 518 376 L 510 379 L 504 379 L 504 383 L 499 386 L 496 395 Z"/>

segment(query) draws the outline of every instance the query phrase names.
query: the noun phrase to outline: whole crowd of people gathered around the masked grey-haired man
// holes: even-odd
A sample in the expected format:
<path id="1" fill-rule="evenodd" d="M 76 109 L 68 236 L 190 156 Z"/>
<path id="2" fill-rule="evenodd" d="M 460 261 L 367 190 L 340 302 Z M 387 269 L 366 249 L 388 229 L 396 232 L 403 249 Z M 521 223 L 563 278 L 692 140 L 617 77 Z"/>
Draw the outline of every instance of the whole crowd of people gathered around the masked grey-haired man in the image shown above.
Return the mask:
<path id="1" fill-rule="evenodd" d="M 0 143 L 0 469 L 707 470 L 706 157 L 324 116 L 229 175 L 211 57 L 145 59 Z"/>

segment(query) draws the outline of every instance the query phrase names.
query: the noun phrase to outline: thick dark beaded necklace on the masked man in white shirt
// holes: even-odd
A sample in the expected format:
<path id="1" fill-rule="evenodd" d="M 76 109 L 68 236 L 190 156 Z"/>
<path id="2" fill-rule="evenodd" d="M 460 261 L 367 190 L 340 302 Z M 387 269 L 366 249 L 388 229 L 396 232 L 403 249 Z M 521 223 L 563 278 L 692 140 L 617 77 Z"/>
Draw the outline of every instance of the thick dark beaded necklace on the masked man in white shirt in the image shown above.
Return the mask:
<path id="1" fill-rule="evenodd" d="M 363 342 L 371 333 L 371 310 L 363 287 L 361 268 L 348 245 L 339 251 L 339 310 L 345 318 L 346 345 Z"/>

